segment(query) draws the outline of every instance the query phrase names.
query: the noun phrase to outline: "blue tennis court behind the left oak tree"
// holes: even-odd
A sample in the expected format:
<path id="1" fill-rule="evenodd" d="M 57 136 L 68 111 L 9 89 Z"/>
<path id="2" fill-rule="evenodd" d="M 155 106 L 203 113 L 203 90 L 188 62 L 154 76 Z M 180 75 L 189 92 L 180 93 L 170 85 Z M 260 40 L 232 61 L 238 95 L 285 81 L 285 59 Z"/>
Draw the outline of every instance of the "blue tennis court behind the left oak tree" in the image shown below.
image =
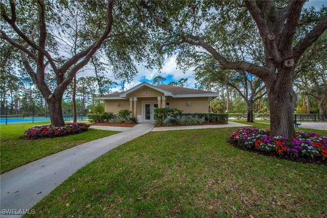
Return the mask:
<path id="1" fill-rule="evenodd" d="M 78 116 L 77 120 L 78 121 L 82 121 L 82 120 L 87 120 L 88 117 L 87 116 Z M 73 120 L 73 117 L 64 117 L 65 121 L 71 121 Z M 44 117 L 44 116 L 34 116 L 34 123 L 45 123 L 45 122 L 50 122 L 50 117 Z M 29 116 L 29 117 L 23 117 L 23 116 L 19 116 L 19 117 L 8 117 L 7 118 L 7 124 L 32 124 L 33 123 L 33 117 Z M 6 125 L 6 117 L 1 117 L 0 118 L 0 124 L 1 125 Z"/>

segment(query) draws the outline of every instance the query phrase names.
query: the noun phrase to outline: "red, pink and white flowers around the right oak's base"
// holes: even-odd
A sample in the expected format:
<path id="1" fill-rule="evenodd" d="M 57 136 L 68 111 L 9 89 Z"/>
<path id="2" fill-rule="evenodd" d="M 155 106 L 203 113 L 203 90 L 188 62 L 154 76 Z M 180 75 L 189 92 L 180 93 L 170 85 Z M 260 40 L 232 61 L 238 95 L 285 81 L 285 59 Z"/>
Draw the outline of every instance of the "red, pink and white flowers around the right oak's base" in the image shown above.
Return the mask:
<path id="1" fill-rule="evenodd" d="M 264 152 L 289 155 L 290 157 L 327 158 L 327 136 L 315 133 L 296 132 L 296 138 L 283 136 L 270 137 L 265 129 L 238 129 L 229 136 L 230 142 L 244 148 L 257 149 Z"/>

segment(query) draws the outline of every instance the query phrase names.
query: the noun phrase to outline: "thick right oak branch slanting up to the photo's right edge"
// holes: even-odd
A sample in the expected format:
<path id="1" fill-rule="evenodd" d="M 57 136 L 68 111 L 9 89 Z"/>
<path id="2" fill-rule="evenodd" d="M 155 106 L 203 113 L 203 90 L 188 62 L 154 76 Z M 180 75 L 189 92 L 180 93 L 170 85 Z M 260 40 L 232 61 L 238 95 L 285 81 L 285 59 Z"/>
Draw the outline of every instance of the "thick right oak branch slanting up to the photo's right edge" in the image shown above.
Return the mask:
<path id="1" fill-rule="evenodd" d="M 314 43 L 319 36 L 327 29 L 327 16 L 324 16 L 321 21 L 293 48 L 293 57 L 295 63 L 301 55 Z"/>

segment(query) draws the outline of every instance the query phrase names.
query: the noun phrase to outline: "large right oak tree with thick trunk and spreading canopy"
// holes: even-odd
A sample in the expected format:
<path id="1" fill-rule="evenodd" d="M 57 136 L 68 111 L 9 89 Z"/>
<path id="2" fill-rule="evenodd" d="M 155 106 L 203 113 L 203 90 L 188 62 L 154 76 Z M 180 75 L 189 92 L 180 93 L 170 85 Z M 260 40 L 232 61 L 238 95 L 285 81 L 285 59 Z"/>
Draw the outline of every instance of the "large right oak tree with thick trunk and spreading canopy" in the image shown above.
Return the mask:
<path id="1" fill-rule="evenodd" d="M 153 20 L 161 29 L 161 51 L 179 53 L 184 66 L 188 56 L 195 56 L 197 46 L 206 51 L 225 69 L 243 70 L 264 81 L 270 107 L 272 136 L 294 137 L 293 112 L 296 94 L 292 88 L 294 69 L 301 55 L 327 28 L 325 9 L 315 17 L 301 15 L 305 1 L 199 1 L 165 3 Z M 305 14 L 306 15 L 306 14 Z M 163 18 L 162 18 L 163 17 Z M 312 23 L 299 40 L 294 35 L 300 27 Z M 232 61 L 220 47 L 225 38 L 250 32 L 259 35 L 264 64 L 255 60 Z M 226 35 L 228 33 L 229 35 Z M 238 34 L 240 35 L 240 34 Z M 242 38 L 235 38 L 242 44 Z M 259 49 L 259 48 L 258 48 Z M 186 63 L 186 64 L 185 64 Z"/>

